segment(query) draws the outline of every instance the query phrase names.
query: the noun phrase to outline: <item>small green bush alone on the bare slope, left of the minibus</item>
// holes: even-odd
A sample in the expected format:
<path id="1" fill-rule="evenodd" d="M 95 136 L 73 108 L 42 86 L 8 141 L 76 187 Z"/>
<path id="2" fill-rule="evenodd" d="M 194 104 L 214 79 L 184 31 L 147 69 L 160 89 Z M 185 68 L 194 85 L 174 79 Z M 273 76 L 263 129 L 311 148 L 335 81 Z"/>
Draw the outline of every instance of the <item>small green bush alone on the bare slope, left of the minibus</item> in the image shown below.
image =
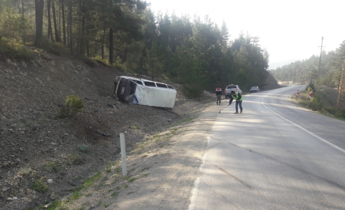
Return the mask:
<path id="1" fill-rule="evenodd" d="M 56 116 L 58 119 L 73 116 L 84 110 L 84 100 L 76 95 L 68 95 L 65 106 L 60 109 L 59 115 Z"/>

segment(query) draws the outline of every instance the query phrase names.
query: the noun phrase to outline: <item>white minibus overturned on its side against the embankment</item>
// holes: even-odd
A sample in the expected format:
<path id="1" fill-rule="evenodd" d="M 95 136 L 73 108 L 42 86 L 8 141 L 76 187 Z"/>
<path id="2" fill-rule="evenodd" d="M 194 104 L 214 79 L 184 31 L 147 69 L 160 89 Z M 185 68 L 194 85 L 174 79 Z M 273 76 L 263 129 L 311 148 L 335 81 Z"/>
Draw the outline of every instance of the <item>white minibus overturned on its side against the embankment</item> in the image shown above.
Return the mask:
<path id="1" fill-rule="evenodd" d="M 173 108 L 176 90 L 171 85 L 130 76 L 116 76 L 113 96 L 125 101 L 134 95 L 134 104 L 145 106 Z"/>

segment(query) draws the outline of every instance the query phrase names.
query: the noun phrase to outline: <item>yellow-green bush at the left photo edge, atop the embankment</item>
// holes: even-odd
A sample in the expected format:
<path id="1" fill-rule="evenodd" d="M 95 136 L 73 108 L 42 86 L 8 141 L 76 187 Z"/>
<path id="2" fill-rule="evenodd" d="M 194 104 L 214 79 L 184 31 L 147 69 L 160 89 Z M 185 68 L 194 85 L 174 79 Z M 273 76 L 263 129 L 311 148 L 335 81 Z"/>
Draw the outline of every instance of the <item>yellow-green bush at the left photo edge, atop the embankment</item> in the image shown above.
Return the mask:
<path id="1" fill-rule="evenodd" d="M 25 61 L 34 57 L 33 52 L 25 47 L 21 39 L 4 37 L 0 39 L 0 55 Z"/>

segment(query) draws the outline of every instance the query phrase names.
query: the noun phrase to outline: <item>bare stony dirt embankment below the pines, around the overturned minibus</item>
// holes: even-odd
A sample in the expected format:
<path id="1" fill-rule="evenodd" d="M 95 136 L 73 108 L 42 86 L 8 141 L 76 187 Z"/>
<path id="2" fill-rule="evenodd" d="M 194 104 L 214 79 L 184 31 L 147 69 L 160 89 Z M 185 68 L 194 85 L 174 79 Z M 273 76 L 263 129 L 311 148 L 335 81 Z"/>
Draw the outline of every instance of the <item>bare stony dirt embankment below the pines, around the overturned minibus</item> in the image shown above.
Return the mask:
<path id="1" fill-rule="evenodd" d="M 108 163 L 115 174 L 113 177 L 118 176 L 119 133 L 126 133 L 128 152 L 134 153 L 138 147 L 148 148 L 143 142 L 154 143 L 152 147 L 157 151 L 146 151 L 146 156 L 140 156 L 137 151 L 139 156 L 132 157 L 131 166 L 135 166 L 135 158 L 145 160 L 150 155 L 162 153 L 159 151 L 163 149 L 164 153 L 173 153 L 169 149 L 171 143 L 164 143 L 170 139 L 165 136 L 187 129 L 184 125 L 191 121 L 190 116 L 181 116 L 197 114 L 214 100 L 213 95 L 188 100 L 178 91 L 173 111 L 129 106 L 110 97 L 113 79 L 119 73 L 101 64 L 91 68 L 78 60 L 52 55 L 38 55 L 33 63 L 0 61 L 0 210 L 38 209 L 39 205 L 52 205 L 54 200 L 73 203 L 70 200 L 77 201 L 80 194 L 91 196 L 92 192 L 84 192 L 87 188 L 80 188 L 90 181 L 87 177 L 104 169 Z M 172 85 L 178 90 L 178 85 Z M 55 120 L 67 95 L 84 98 L 85 110 L 75 117 Z M 180 127 L 171 130 L 172 126 Z M 112 135 L 102 136 L 97 129 Z M 159 132 L 168 135 L 156 134 Z M 86 145 L 89 151 L 83 151 L 79 145 Z M 154 164 L 148 162 L 146 168 Z M 138 173 L 136 169 L 129 169 L 131 176 Z M 146 169 L 140 165 L 137 170 Z M 48 179 L 52 179 L 51 184 L 47 184 Z M 104 180 L 101 184 L 105 185 L 105 179 L 103 176 L 98 182 Z M 129 183 L 128 179 L 116 180 Z M 117 187 L 125 189 L 126 185 Z M 102 186 L 99 189 L 102 191 Z M 120 195 L 121 191 L 111 197 L 116 197 L 117 193 Z M 91 203 L 94 202 L 82 209 L 92 208 Z M 106 206 L 101 205 L 102 208 Z"/>

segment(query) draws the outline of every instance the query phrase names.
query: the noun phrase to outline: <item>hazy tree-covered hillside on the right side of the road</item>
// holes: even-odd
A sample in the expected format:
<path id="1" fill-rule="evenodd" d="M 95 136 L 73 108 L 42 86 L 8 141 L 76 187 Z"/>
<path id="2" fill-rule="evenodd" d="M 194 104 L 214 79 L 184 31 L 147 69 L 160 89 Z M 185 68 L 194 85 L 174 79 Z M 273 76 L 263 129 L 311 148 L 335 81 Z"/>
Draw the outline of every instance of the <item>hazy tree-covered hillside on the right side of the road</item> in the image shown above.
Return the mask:
<path id="1" fill-rule="evenodd" d="M 270 73 L 280 81 L 295 81 L 308 84 L 310 82 L 317 83 L 318 75 L 320 75 L 319 85 L 339 89 L 341 67 L 344 59 L 345 41 L 334 51 L 328 53 L 323 51 L 320 73 L 318 72 L 320 56 L 315 55 L 309 59 L 299 60 L 275 70 L 270 70 Z"/>

